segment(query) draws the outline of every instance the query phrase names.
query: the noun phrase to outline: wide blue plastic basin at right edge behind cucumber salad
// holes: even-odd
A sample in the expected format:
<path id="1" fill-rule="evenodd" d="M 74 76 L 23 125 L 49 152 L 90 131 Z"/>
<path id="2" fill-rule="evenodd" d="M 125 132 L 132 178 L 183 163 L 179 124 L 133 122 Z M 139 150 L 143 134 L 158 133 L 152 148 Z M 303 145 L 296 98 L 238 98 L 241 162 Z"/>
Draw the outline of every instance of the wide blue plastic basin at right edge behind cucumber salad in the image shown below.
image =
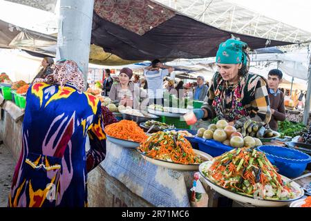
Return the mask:
<path id="1" fill-rule="evenodd" d="M 281 146 L 258 146 L 258 151 L 265 153 L 267 159 L 279 169 L 285 177 L 298 177 L 305 171 L 311 157 L 301 151 Z"/>

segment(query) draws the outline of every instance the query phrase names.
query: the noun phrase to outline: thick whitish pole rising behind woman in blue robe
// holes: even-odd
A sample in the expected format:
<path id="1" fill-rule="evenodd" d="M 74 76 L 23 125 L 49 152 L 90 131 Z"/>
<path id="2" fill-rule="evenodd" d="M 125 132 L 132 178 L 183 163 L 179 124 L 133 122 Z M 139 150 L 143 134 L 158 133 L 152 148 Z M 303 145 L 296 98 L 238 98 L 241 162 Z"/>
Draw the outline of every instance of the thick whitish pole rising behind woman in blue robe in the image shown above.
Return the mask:
<path id="1" fill-rule="evenodd" d="M 88 74 L 94 1 L 60 0 L 56 59 L 69 59 Z"/>

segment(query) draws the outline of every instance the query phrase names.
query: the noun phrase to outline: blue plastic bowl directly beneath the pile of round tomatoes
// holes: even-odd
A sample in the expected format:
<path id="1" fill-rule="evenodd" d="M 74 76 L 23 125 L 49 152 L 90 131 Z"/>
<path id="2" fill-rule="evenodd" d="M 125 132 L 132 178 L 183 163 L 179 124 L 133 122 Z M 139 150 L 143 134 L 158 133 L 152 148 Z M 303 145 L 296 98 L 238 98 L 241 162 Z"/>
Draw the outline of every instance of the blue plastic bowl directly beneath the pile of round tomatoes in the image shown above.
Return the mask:
<path id="1" fill-rule="evenodd" d="M 208 153 L 212 157 L 218 157 L 227 151 L 231 151 L 233 149 L 232 146 L 227 146 L 223 143 L 220 143 L 216 140 L 206 140 L 201 137 L 194 137 L 196 142 L 198 142 L 199 151 L 203 151 Z"/>

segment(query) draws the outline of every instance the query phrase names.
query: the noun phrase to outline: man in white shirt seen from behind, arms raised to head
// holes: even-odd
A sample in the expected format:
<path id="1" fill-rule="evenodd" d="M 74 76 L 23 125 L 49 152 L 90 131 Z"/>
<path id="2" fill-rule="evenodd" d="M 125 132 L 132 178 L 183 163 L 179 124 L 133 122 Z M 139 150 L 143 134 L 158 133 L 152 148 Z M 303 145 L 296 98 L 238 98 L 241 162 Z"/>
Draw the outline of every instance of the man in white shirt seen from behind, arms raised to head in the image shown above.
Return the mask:
<path id="1" fill-rule="evenodd" d="M 151 66 L 144 68 L 144 77 L 147 79 L 149 104 L 164 104 L 163 78 L 173 72 L 171 66 L 164 66 L 159 59 L 152 61 Z"/>

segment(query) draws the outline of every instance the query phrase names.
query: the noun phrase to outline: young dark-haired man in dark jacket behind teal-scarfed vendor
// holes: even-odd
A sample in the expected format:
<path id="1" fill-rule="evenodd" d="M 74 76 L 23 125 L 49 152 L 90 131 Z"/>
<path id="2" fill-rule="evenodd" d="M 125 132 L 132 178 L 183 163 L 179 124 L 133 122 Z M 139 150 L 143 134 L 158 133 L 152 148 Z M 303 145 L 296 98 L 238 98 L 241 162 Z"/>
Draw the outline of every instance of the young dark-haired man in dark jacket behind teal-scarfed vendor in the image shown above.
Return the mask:
<path id="1" fill-rule="evenodd" d="M 269 123 L 270 128 L 278 131 L 278 121 L 285 121 L 284 94 L 279 90 L 279 84 L 282 81 L 283 73 L 281 70 L 272 69 L 268 74 L 269 99 L 272 117 Z"/>

